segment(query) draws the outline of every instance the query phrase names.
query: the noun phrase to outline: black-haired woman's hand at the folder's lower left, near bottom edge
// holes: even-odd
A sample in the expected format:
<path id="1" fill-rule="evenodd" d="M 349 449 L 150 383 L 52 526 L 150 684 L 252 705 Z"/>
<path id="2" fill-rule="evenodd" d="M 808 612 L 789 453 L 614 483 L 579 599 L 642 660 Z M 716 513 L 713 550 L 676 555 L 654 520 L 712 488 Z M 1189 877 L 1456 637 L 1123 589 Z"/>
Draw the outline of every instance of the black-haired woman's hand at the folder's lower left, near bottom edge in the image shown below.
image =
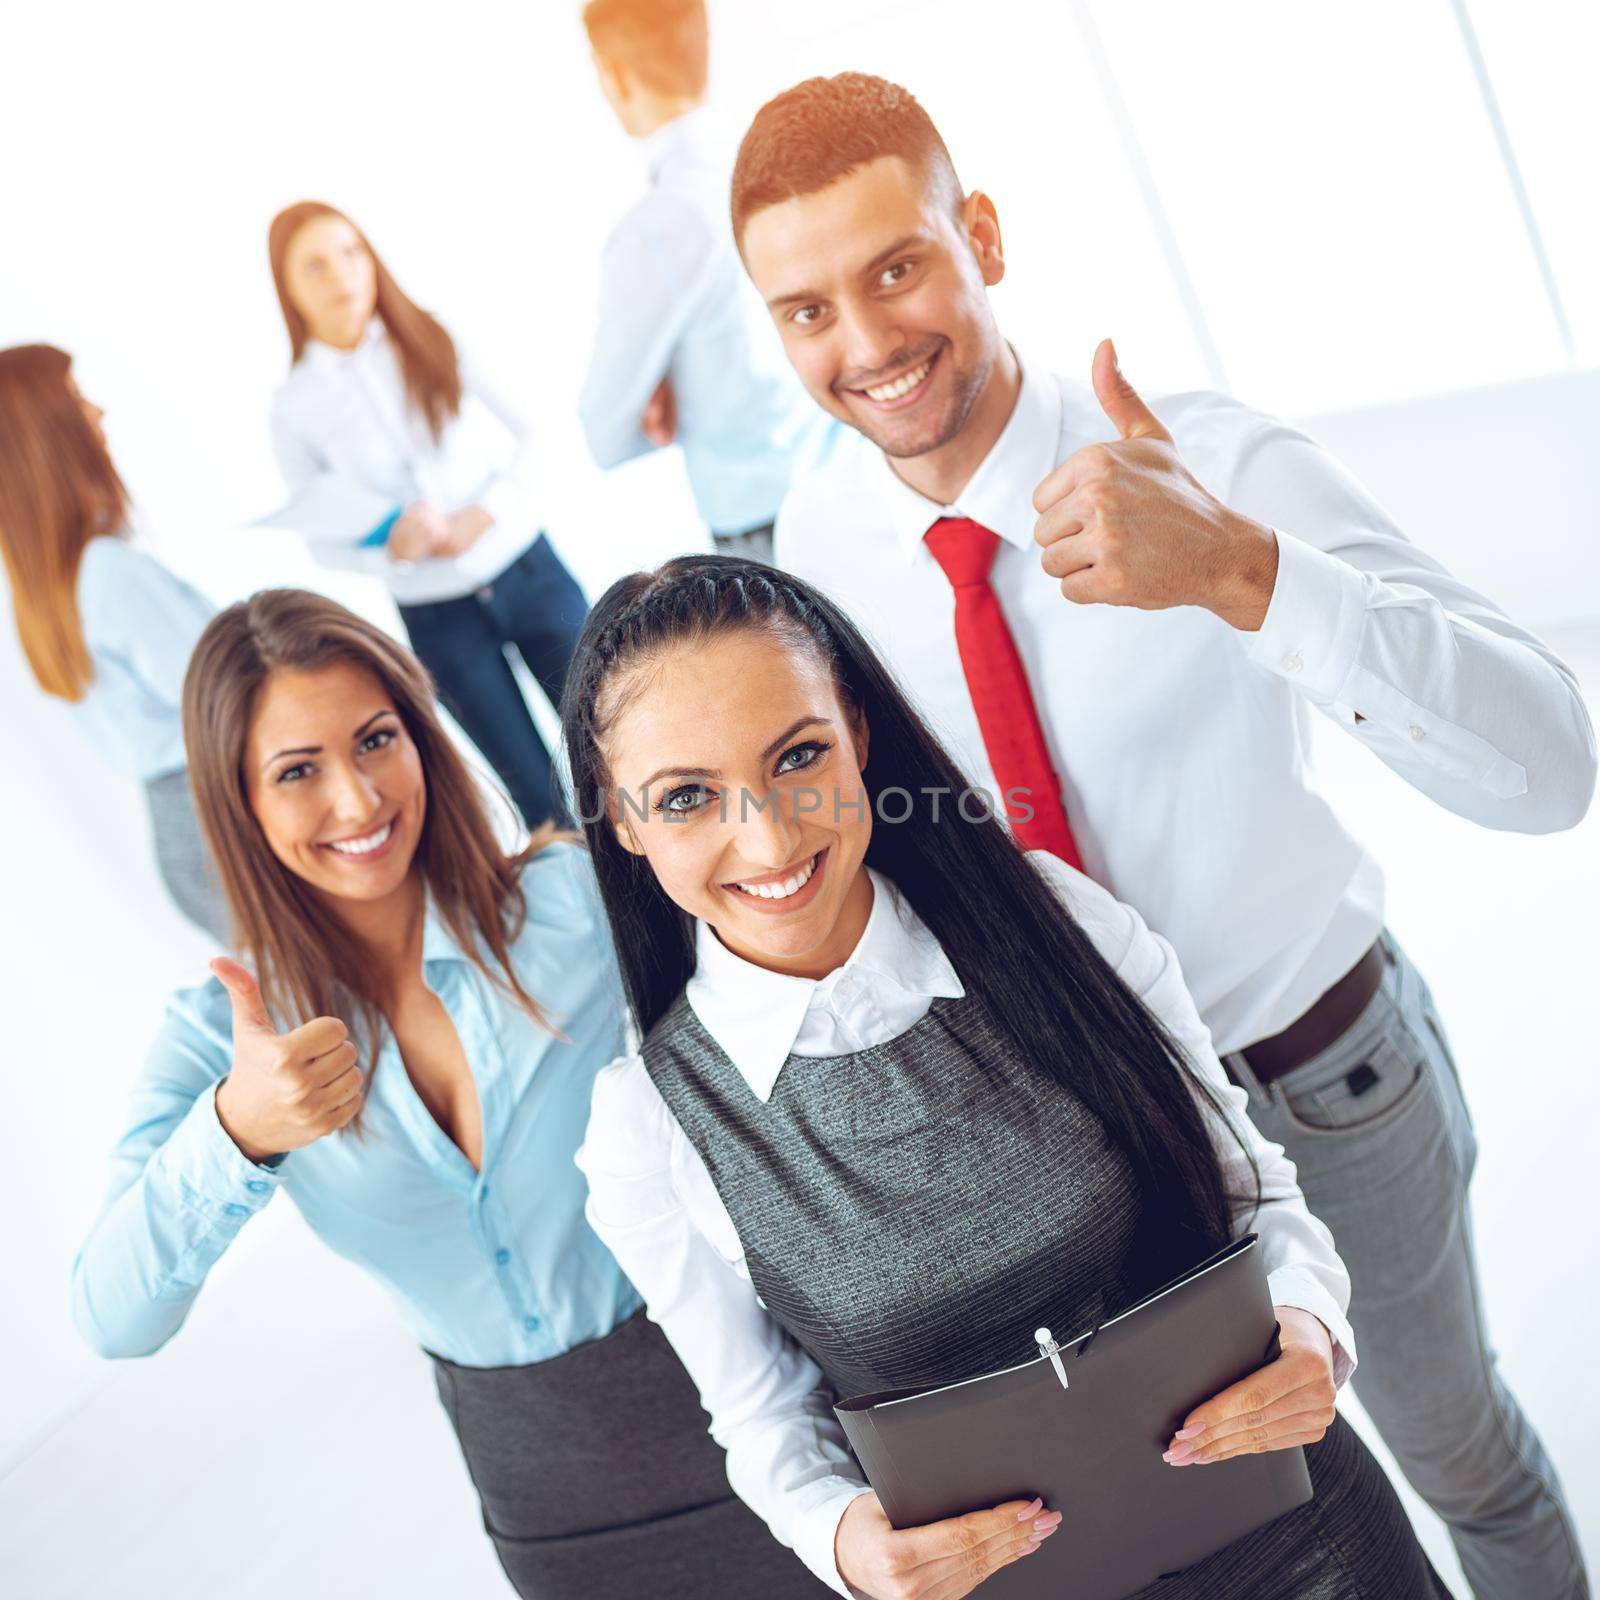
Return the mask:
<path id="1" fill-rule="evenodd" d="M 1059 1510 L 1030 1499 L 896 1530 L 877 1494 L 867 1493 L 838 1518 L 834 1562 L 845 1582 L 870 1600 L 960 1600 L 1002 1566 L 1032 1555 L 1059 1526 Z"/>

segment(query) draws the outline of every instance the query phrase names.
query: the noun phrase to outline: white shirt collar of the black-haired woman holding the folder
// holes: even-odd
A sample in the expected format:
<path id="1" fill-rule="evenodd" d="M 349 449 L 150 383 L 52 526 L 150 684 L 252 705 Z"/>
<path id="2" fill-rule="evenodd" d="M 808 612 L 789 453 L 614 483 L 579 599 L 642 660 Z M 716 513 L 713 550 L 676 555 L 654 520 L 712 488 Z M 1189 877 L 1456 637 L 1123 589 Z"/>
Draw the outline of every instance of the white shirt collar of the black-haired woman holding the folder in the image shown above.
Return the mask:
<path id="1" fill-rule="evenodd" d="M 923 920 L 880 872 L 867 867 L 872 912 L 850 958 L 826 978 L 790 978 L 734 955 L 706 922 L 694 926 L 694 976 L 688 1002 L 760 1101 L 794 1053 L 806 1016 L 842 1005 L 851 989 L 922 1000 L 960 1000 L 966 992 Z"/>

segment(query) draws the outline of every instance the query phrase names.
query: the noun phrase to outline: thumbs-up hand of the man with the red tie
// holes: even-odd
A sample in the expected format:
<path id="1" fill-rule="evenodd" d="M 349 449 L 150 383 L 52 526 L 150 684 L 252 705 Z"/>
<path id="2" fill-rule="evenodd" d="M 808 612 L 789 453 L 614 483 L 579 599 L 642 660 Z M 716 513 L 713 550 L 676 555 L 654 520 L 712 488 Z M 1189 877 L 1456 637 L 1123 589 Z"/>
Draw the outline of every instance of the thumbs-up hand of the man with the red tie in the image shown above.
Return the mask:
<path id="1" fill-rule="evenodd" d="M 1040 565 L 1080 605 L 1200 605 L 1254 632 L 1277 581 L 1277 534 L 1190 477 L 1173 435 L 1122 376 L 1110 339 L 1094 352 L 1093 376 L 1122 438 L 1074 451 L 1034 490 Z"/>

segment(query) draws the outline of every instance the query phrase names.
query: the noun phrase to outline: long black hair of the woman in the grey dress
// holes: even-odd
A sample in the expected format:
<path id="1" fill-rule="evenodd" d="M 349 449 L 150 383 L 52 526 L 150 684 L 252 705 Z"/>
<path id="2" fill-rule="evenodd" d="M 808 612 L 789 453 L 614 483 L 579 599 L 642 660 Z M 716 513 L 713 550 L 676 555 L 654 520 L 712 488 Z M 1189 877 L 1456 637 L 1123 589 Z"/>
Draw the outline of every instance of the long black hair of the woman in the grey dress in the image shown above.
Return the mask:
<path id="1" fill-rule="evenodd" d="M 1154 1288 L 1226 1243 L 1230 1203 L 1251 1202 L 1224 1192 L 1197 1101 L 1216 1106 L 1210 1088 L 1003 824 L 960 814 L 954 797 L 968 792 L 966 779 L 854 624 L 810 584 L 757 562 L 678 557 L 619 579 L 589 613 L 566 678 L 574 800 L 640 1032 L 693 976 L 694 925 L 650 862 L 618 842 L 602 741 L 622 704 L 621 674 L 736 627 L 814 648 L 843 704 L 864 714 L 870 803 L 893 787 L 909 795 L 894 795 L 896 813 L 910 806 L 904 822 L 874 827 L 867 864 L 910 902 L 1018 1054 L 1070 1088 L 1128 1158 L 1142 1202 L 1130 1288 Z M 946 800 L 938 822 L 928 790 Z"/>

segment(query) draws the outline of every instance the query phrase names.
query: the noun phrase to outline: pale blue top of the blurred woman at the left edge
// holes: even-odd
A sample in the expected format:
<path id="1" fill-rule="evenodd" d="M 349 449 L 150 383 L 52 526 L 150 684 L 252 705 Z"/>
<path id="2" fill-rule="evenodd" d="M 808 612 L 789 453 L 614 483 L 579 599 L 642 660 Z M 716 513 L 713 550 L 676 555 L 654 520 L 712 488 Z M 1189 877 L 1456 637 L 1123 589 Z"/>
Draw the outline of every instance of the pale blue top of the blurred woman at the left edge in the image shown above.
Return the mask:
<path id="1" fill-rule="evenodd" d="M 184 672 L 216 606 L 154 555 L 107 534 L 78 563 L 78 618 L 94 682 L 72 715 L 120 771 L 160 778 L 184 763 Z"/>

